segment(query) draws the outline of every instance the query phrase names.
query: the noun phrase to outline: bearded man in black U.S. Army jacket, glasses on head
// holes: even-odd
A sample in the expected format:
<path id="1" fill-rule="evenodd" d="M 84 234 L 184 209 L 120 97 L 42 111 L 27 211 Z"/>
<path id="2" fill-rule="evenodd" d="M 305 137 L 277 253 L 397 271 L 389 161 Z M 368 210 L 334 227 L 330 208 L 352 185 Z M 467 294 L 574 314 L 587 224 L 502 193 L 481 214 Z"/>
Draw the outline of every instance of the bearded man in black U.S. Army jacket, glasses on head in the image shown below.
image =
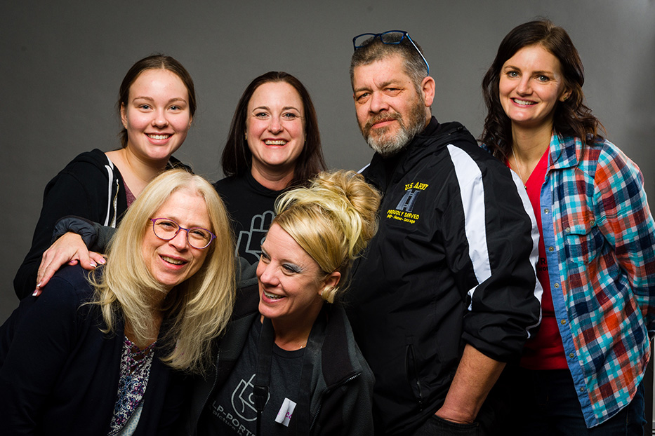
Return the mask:
<path id="1" fill-rule="evenodd" d="M 353 42 L 357 122 L 376 152 L 364 175 L 384 198 L 346 308 L 376 376 L 376 434 L 494 434 L 491 388 L 541 318 L 529 200 L 463 125 L 431 116 L 435 80 L 409 34 Z"/>

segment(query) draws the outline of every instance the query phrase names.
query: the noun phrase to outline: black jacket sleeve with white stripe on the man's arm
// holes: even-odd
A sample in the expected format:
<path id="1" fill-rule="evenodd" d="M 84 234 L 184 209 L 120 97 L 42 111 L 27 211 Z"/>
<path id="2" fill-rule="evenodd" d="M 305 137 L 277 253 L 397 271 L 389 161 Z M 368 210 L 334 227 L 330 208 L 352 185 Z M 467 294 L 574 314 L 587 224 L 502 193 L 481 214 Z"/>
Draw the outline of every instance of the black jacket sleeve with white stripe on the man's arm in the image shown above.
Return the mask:
<path id="1" fill-rule="evenodd" d="M 460 186 L 464 203 L 468 201 L 464 208 L 478 219 L 467 216 L 461 232 L 467 237 L 461 246 L 472 247 L 465 254 L 469 262 L 461 262 L 470 268 L 459 271 L 457 278 L 468 294 L 463 339 L 484 355 L 508 362 L 520 355 L 541 319 L 535 271 L 538 229 L 527 193 L 510 170 L 496 161 L 480 168 L 479 177 Z M 469 221 L 474 225 L 467 227 Z M 453 254 L 461 256 L 461 250 Z"/>

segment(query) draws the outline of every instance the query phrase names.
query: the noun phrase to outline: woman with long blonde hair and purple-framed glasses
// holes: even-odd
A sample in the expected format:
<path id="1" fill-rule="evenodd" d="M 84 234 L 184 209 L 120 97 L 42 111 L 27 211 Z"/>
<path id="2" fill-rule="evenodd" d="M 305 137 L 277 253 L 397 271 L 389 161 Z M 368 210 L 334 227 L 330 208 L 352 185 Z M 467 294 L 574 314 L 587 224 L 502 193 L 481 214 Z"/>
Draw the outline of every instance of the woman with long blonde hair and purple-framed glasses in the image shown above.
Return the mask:
<path id="1" fill-rule="evenodd" d="M 218 193 L 164 172 L 127 210 L 105 266 L 67 266 L 0 327 L 3 434 L 177 434 L 183 372 L 234 301 L 234 242 Z"/>

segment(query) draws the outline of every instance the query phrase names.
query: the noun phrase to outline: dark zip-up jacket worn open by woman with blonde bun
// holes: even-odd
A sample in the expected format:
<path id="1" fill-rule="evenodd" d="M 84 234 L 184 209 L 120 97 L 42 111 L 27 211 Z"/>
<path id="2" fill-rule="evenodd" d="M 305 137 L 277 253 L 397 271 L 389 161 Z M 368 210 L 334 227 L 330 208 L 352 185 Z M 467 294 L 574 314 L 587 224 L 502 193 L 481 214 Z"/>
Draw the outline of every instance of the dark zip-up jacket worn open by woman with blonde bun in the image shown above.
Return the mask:
<path id="1" fill-rule="evenodd" d="M 258 302 L 257 285 L 237 291 L 232 320 L 216 343 L 215 366 L 205 379 L 194 382 L 188 421 L 180 434 L 198 434 L 207 402 L 232 372 L 259 316 Z M 289 435 L 373 435 L 373 374 L 339 306 L 324 304 L 305 348 L 305 367 L 307 364 L 311 366 L 310 386 L 300 386 L 305 397 L 293 412 L 296 423 L 292 420 L 289 425 Z"/>

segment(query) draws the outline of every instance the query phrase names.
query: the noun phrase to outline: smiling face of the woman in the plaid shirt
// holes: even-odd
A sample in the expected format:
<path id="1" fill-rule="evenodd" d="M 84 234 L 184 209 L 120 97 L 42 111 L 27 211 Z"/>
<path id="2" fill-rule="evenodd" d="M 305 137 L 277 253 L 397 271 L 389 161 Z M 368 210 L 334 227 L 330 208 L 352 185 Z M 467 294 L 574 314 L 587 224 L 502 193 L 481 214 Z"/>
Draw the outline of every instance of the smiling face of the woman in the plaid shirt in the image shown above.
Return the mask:
<path id="1" fill-rule="evenodd" d="M 501 69 L 498 94 L 512 128 L 552 130 L 558 101 L 569 95 L 560 61 L 543 46 L 527 46 Z"/>

